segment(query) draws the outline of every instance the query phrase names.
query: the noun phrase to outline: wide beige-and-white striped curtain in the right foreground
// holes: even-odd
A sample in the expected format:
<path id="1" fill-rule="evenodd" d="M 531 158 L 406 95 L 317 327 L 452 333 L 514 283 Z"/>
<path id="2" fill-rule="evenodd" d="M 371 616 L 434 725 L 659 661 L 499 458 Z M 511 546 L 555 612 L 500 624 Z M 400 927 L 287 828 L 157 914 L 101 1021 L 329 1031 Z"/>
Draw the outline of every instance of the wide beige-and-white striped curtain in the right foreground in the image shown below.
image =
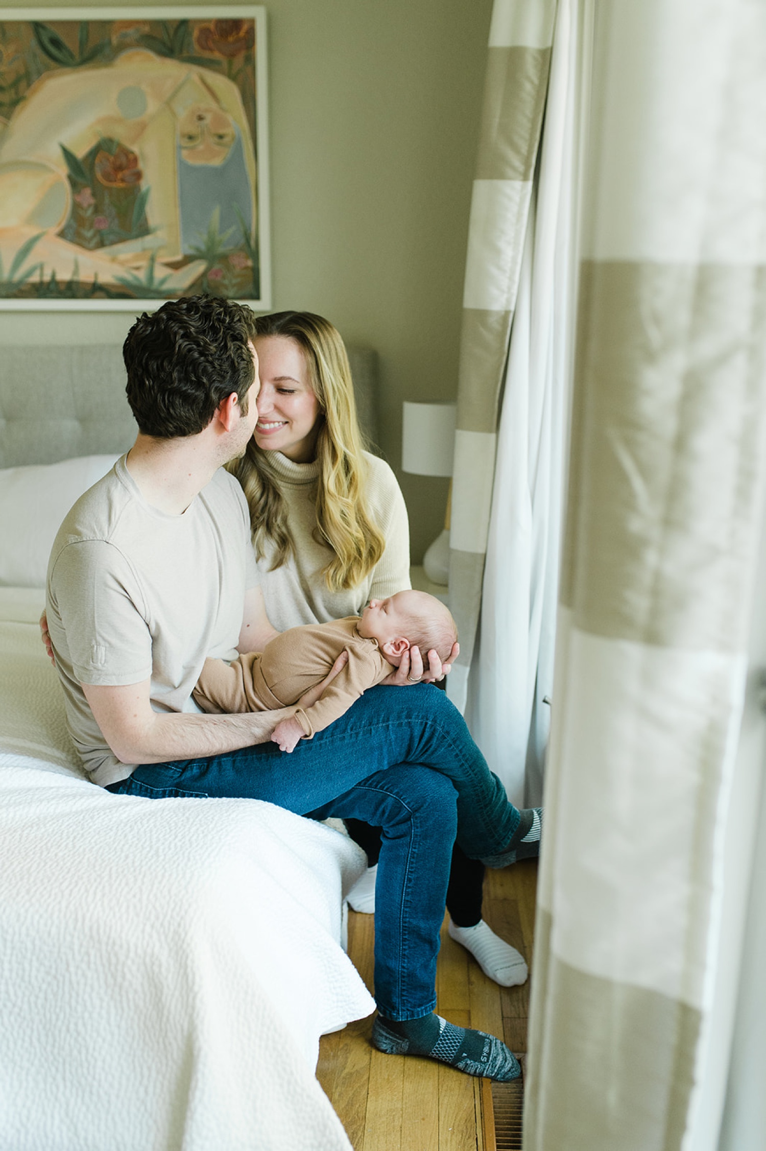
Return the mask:
<path id="1" fill-rule="evenodd" d="M 765 487 L 766 5 L 594 16 L 524 1148 L 698 1151 Z"/>

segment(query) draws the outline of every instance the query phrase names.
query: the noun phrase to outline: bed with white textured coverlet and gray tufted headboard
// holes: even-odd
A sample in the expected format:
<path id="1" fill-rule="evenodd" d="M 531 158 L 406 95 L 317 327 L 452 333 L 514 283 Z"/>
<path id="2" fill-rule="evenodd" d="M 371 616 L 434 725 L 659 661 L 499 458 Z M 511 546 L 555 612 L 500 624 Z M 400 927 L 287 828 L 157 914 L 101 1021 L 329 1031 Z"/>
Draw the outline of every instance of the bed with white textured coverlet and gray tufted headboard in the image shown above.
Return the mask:
<path id="1" fill-rule="evenodd" d="M 0 1148 L 348 1151 L 314 1072 L 374 1006 L 341 945 L 365 857 L 270 803 L 86 779 L 41 573 L 135 426 L 116 349 L 1 360 Z"/>

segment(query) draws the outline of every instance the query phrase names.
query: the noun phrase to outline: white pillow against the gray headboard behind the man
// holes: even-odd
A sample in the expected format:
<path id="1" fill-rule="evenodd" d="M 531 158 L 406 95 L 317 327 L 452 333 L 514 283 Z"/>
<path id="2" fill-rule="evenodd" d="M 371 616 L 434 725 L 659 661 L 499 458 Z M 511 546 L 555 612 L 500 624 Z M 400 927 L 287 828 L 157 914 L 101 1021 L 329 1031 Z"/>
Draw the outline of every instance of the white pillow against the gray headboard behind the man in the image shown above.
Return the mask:
<path id="1" fill-rule="evenodd" d="M 0 585 L 45 587 L 62 519 L 119 458 L 79 456 L 60 464 L 0 470 Z"/>

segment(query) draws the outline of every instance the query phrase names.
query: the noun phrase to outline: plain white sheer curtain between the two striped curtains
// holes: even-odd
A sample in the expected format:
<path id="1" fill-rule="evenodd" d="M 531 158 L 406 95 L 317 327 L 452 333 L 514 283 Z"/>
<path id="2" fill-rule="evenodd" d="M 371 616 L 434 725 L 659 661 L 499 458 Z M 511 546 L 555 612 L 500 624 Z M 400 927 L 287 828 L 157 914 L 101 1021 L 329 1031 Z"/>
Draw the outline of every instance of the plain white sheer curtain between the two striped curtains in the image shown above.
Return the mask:
<path id="1" fill-rule="evenodd" d="M 543 801 L 551 721 L 587 31 L 576 0 L 559 0 L 465 706 L 473 739 L 518 807 Z"/>

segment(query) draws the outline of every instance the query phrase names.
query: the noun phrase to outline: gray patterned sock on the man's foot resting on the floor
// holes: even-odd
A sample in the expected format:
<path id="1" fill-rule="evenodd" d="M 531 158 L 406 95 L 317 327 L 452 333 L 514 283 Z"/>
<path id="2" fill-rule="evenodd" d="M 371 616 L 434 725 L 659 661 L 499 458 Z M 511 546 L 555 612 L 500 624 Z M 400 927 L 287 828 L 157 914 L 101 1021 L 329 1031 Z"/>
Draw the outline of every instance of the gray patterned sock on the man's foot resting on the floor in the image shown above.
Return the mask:
<path id="1" fill-rule="evenodd" d="M 448 1023 L 441 1015 L 392 1020 L 378 1015 L 372 1024 L 372 1045 L 389 1055 L 425 1055 L 465 1072 L 507 1083 L 522 1073 L 505 1043 L 485 1031 Z"/>

